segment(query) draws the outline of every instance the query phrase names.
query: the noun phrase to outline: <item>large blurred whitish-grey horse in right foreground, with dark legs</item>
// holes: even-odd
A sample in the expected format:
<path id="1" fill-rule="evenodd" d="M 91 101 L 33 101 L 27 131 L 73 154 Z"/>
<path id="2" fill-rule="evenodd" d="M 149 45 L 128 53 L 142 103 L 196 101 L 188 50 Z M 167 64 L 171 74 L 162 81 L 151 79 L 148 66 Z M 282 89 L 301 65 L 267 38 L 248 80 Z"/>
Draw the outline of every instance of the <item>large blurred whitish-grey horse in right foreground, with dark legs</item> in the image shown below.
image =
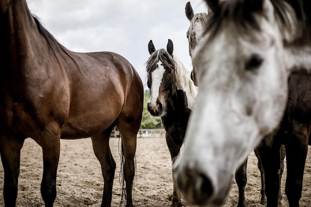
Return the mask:
<path id="1" fill-rule="evenodd" d="M 311 1 L 206 2 L 213 15 L 193 54 L 200 90 L 189 118 L 184 150 L 173 166 L 174 181 L 191 203 L 223 203 L 234 169 L 263 138 L 276 133 L 280 124 L 289 123 L 291 130 L 283 133 L 288 138 L 282 138 L 288 166 L 292 165 L 288 167 L 286 194 L 290 206 L 297 207 L 310 123 L 297 104 L 286 103 L 290 74 L 302 70 L 311 73 Z M 294 101 L 299 100 L 295 97 Z M 298 107 L 297 112 L 293 106 Z M 289 113 L 284 117 L 286 107 L 292 121 Z M 281 123 L 282 117 L 287 122 Z M 300 138 L 294 139 L 295 134 Z M 265 157 L 260 156 L 267 206 L 276 207 L 280 141 L 271 137 L 264 141 L 273 155 L 262 150 Z"/>

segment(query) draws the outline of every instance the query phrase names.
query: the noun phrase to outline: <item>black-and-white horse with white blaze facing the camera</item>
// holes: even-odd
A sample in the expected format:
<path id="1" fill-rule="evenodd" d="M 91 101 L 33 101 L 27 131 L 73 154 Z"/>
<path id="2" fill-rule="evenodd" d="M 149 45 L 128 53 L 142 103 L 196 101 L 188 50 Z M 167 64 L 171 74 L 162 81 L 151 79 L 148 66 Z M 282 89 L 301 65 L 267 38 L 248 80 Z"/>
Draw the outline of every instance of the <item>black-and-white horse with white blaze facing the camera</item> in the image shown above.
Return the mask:
<path id="1" fill-rule="evenodd" d="M 173 55 L 171 40 L 168 40 L 167 50 L 156 50 L 152 41 L 148 49 L 151 57 L 147 62 L 147 83 L 150 88 L 147 108 L 151 115 L 161 117 L 166 143 L 174 162 L 185 137 L 197 87 L 190 78 L 191 69 Z M 180 195 L 174 184 L 171 207 L 180 206 Z"/>

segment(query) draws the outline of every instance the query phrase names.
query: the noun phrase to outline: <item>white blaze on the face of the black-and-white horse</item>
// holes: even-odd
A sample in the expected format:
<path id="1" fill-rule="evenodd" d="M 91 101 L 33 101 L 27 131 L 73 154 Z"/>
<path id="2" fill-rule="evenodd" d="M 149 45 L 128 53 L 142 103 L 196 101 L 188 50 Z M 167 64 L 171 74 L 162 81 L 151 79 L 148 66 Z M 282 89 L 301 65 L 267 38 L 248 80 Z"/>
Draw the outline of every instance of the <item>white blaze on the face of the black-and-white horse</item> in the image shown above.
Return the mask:
<path id="1" fill-rule="evenodd" d="M 156 65 L 157 65 L 157 69 L 155 69 L 151 74 L 152 85 L 150 89 L 149 102 L 151 102 L 152 106 L 156 106 L 156 99 L 159 95 L 160 85 L 162 83 L 162 78 L 165 72 L 165 69 L 161 61 L 159 61 Z"/>

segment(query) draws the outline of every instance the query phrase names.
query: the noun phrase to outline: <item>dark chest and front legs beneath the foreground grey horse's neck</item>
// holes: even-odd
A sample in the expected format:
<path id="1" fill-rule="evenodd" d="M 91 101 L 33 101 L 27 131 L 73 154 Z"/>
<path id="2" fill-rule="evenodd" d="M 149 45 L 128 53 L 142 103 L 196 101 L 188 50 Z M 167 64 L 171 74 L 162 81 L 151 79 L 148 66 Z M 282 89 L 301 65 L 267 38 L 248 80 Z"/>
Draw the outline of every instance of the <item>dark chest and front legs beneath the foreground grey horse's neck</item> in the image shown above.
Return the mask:
<path id="1" fill-rule="evenodd" d="M 311 75 L 292 74 L 283 120 L 275 134 L 264 138 L 257 147 L 265 172 L 267 207 L 277 206 L 280 147 L 286 148 L 287 177 L 285 193 L 290 207 L 299 207 L 304 169 L 311 144 Z M 272 139 L 272 142 L 271 142 Z M 282 163 L 281 163 L 282 164 Z"/>

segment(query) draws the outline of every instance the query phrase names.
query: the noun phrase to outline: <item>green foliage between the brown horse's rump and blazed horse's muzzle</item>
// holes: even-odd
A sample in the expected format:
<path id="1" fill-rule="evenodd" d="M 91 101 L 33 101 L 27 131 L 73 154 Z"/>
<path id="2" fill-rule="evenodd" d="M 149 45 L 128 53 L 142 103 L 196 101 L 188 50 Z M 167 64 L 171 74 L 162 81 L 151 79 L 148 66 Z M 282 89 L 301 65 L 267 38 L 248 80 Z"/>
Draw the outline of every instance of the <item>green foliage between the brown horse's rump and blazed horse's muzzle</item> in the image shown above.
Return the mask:
<path id="1" fill-rule="evenodd" d="M 150 98 L 150 90 L 145 89 L 144 91 L 144 109 L 143 109 L 143 117 L 142 117 L 142 123 L 141 128 L 142 129 L 152 129 L 157 128 L 161 126 L 161 119 L 160 117 L 153 117 L 147 110 L 147 103 Z"/>

